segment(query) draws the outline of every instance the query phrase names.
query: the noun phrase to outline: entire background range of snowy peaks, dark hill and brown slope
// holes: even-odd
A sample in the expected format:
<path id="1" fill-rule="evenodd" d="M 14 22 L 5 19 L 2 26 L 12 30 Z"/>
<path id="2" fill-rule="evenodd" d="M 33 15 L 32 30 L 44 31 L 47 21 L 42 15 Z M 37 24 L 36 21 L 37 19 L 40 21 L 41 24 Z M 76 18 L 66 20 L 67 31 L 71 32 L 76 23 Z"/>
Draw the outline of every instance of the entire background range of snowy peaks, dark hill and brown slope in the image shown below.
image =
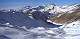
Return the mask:
<path id="1" fill-rule="evenodd" d="M 0 10 L 3 12 L 9 12 L 12 11 L 13 13 L 15 11 L 23 12 L 25 15 L 34 18 L 34 19 L 41 19 L 46 22 L 50 23 L 59 23 L 64 24 L 68 21 L 75 21 L 79 19 L 79 13 L 80 13 L 80 4 L 74 4 L 74 5 L 65 5 L 65 6 L 56 6 L 53 5 L 44 5 L 44 6 L 25 6 L 22 9 L 19 10 Z M 49 20 L 49 21 L 47 21 Z"/>

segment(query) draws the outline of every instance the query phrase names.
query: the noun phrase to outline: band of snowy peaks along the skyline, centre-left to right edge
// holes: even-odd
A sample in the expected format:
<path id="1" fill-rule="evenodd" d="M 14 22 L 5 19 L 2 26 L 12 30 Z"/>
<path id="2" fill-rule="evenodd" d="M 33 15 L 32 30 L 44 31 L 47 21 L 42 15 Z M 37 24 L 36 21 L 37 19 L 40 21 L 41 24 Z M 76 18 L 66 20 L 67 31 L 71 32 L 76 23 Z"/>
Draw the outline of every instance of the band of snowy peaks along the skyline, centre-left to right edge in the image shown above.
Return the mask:
<path id="1" fill-rule="evenodd" d="M 72 13 L 74 12 L 76 9 L 79 8 L 79 4 L 75 4 L 75 5 L 64 5 L 64 6 L 57 6 L 57 5 L 42 5 L 42 6 L 36 6 L 36 7 L 30 7 L 30 6 L 25 6 L 24 8 L 22 8 L 23 12 L 26 13 L 28 10 L 31 10 L 31 12 L 34 11 L 41 11 L 41 12 L 49 12 L 49 13 L 53 13 L 53 14 L 58 14 L 58 13 Z"/>

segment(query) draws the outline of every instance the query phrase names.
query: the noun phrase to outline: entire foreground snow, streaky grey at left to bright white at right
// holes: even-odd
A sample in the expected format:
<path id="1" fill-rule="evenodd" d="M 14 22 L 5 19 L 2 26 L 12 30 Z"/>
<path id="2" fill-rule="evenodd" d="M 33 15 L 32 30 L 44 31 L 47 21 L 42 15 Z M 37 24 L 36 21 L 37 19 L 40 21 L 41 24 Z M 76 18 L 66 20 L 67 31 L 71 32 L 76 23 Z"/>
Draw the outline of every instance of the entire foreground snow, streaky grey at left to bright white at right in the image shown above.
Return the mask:
<path id="1" fill-rule="evenodd" d="M 16 29 L 0 27 L 0 35 L 10 39 L 80 39 L 79 23 L 80 21 L 76 21 L 59 28 L 37 27 L 27 29 L 25 26 L 22 26 Z"/>

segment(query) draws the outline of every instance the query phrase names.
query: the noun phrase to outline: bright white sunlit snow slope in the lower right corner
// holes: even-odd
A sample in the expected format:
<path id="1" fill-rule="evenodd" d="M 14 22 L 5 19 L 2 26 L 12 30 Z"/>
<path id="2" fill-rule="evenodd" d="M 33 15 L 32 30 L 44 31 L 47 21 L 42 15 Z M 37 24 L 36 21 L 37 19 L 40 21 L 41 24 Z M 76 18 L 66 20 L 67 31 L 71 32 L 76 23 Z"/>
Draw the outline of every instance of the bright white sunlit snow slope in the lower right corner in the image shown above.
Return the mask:
<path id="1" fill-rule="evenodd" d="M 65 39 L 80 39 L 80 21 L 72 22 L 64 26 Z"/>

